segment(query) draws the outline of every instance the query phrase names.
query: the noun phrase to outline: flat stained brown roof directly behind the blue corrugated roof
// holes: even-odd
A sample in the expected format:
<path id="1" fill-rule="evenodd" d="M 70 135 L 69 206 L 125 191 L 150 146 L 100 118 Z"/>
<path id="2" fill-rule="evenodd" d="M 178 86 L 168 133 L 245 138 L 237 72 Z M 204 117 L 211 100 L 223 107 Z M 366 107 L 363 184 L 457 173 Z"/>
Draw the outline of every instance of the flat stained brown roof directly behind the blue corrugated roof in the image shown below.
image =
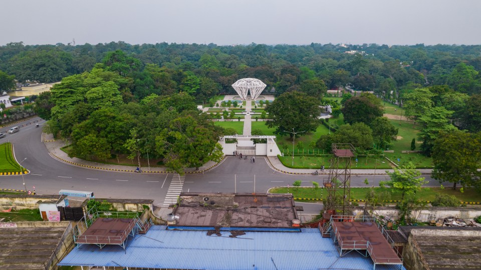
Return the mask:
<path id="1" fill-rule="evenodd" d="M 175 226 L 292 228 L 291 194 L 181 193 Z"/>

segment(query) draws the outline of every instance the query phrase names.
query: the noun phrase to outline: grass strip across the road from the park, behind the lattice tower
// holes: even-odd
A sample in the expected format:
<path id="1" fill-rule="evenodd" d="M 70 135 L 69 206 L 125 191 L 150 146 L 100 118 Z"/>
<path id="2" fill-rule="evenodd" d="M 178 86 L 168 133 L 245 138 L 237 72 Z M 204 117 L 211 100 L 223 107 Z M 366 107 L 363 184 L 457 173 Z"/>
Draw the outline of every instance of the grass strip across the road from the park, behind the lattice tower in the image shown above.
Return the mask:
<path id="1" fill-rule="evenodd" d="M 294 180 L 293 180 L 294 182 Z M 328 191 L 326 188 L 322 187 L 322 181 L 318 182 L 320 187 L 319 188 L 312 188 L 312 187 L 290 187 L 289 192 L 287 191 L 287 187 L 280 187 L 280 188 L 273 188 L 270 190 L 271 193 L 292 193 L 295 198 L 311 198 L 311 199 L 326 199 L 328 195 Z M 304 182 L 303 185 L 309 186 L 312 185 L 310 182 Z M 400 200 L 402 195 L 399 191 L 394 191 L 391 188 L 376 188 L 376 192 L 388 191 L 391 195 L 390 198 L 386 198 L 387 200 Z M 322 192 L 322 197 L 321 197 Z M 351 199 L 353 200 L 361 200 L 366 198 L 366 194 L 369 192 L 369 188 L 351 188 Z M 453 190 L 452 188 L 440 188 L 440 187 L 432 187 L 432 188 L 422 188 L 420 191 L 416 192 L 416 197 L 424 200 L 424 201 L 433 201 L 436 197 L 436 194 L 447 194 L 447 195 L 454 195 L 460 201 L 465 202 L 479 202 L 481 201 L 481 194 L 477 192 L 474 188 L 465 188 L 464 192 L 460 192 L 459 189 Z"/>

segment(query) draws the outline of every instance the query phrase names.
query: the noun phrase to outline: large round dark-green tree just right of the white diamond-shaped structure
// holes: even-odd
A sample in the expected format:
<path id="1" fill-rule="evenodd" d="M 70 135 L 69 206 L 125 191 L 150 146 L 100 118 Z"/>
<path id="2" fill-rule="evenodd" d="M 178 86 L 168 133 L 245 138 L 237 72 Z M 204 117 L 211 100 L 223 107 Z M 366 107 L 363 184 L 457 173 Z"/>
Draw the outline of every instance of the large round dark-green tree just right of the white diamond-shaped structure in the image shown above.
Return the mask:
<path id="1" fill-rule="evenodd" d="M 286 131 L 315 131 L 319 126 L 318 116 L 321 114 L 320 101 L 312 99 L 305 93 L 288 92 L 280 95 L 274 102 L 267 106 L 271 121 L 266 125 L 275 127 L 276 134 L 284 135 Z"/>

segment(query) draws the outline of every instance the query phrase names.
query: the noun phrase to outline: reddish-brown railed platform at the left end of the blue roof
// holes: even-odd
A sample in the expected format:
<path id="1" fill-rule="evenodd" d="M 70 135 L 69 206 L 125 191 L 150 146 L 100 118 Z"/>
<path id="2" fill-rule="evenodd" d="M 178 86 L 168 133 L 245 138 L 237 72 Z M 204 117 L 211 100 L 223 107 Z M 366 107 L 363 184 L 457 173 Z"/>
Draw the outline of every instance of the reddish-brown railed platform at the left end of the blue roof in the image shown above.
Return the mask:
<path id="1" fill-rule="evenodd" d="M 122 245 L 135 228 L 133 218 L 97 218 L 90 227 L 75 239 L 76 244 Z"/>

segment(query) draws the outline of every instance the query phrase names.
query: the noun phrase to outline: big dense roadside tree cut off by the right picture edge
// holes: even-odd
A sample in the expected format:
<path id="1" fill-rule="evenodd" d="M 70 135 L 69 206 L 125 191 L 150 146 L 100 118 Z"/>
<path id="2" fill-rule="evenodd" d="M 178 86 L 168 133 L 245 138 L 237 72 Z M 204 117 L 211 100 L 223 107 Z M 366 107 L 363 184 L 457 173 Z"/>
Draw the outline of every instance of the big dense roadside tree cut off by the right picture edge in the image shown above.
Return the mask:
<path id="1" fill-rule="evenodd" d="M 432 177 L 439 182 L 451 182 L 453 188 L 479 186 L 481 160 L 481 133 L 455 131 L 443 133 L 434 142 Z"/>

